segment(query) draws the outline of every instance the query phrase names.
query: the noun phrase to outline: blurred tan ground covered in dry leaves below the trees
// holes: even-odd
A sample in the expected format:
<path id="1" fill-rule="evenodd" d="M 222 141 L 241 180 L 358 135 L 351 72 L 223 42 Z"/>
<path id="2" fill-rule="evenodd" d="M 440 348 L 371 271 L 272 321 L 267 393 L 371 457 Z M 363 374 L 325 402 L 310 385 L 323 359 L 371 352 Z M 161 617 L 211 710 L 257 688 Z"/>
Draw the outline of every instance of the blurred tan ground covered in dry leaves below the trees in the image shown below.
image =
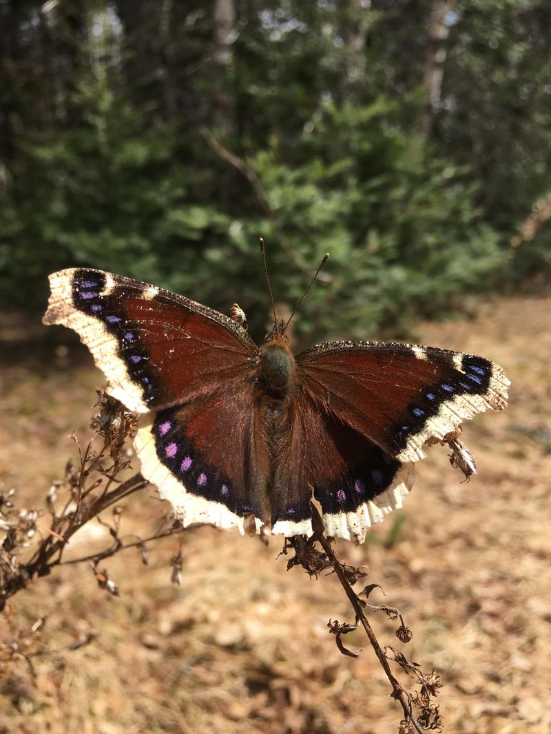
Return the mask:
<path id="1" fill-rule="evenodd" d="M 469 323 L 419 328 L 425 344 L 500 363 L 510 407 L 467 424 L 471 482 L 435 446 L 405 509 L 363 547 L 338 545 L 370 566 L 368 583 L 413 630 L 403 646 L 396 625 L 375 617 L 381 643 L 442 677 L 448 733 L 551 732 L 550 314 L 551 299 L 505 299 Z M 1 357 L 0 480 L 23 506 L 44 507 L 73 454 L 68 433 L 90 434 L 102 378 L 77 346 L 17 356 Z M 153 489 L 134 495 L 123 532 L 153 528 L 165 510 Z M 71 553 L 98 547 L 102 533 L 83 531 Z M 46 617 L 31 634 L 35 675 L 15 653 L 2 664 L 0 732 L 396 734 L 401 712 L 366 639 L 347 636 L 363 648 L 354 660 L 328 634 L 328 619 L 353 621 L 342 589 L 334 576 L 287 572 L 281 545 L 198 528 L 183 537 L 181 586 L 170 584 L 175 538 L 151 548 L 147 567 L 135 551 L 105 562 L 119 597 L 89 564 L 32 581 L 0 619 L 0 643 L 11 644 Z M 87 633 L 93 641 L 71 650 Z"/>

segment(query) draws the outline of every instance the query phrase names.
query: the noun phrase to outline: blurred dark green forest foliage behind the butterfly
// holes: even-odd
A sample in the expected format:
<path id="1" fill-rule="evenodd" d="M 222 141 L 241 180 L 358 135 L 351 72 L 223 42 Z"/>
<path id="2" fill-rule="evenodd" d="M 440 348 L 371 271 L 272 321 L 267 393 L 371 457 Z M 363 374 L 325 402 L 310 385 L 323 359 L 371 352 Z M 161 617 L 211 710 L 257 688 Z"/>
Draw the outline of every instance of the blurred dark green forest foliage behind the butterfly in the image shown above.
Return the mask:
<path id="1" fill-rule="evenodd" d="M 548 272 L 546 219 L 514 256 L 509 242 L 551 190 L 549 8 L 454 5 L 424 134 L 435 3 L 234 0 L 225 56 L 200 5 L 4 4 L 3 305 L 40 310 L 48 272 L 90 265 L 237 300 L 262 335 L 264 236 L 287 305 L 331 253 L 301 339 L 375 338 Z"/>

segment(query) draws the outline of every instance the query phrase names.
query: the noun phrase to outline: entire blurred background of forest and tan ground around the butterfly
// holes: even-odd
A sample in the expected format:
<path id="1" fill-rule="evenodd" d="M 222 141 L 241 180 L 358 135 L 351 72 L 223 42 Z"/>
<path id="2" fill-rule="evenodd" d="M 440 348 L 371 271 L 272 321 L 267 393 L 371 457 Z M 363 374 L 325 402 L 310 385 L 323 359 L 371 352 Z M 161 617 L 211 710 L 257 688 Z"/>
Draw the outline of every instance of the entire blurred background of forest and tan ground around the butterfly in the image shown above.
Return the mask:
<path id="1" fill-rule="evenodd" d="M 466 426 L 478 476 L 433 448 L 339 553 L 403 611 L 448 732 L 549 734 L 550 28 L 544 0 L 0 0 L 0 490 L 46 513 L 104 384 L 40 325 L 49 272 L 237 301 L 262 338 L 259 236 L 281 309 L 330 252 L 299 346 L 414 338 L 513 381 Z M 151 488 L 121 532 L 166 512 Z M 67 558 L 109 542 L 97 524 Z M 120 597 L 87 564 L 33 581 L 0 618 L 0 733 L 396 734 L 365 639 L 352 660 L 328 635 L 342 590 L 281 545 L 193 530 L 180 586 L 176 539 L 109 559 Z"/>

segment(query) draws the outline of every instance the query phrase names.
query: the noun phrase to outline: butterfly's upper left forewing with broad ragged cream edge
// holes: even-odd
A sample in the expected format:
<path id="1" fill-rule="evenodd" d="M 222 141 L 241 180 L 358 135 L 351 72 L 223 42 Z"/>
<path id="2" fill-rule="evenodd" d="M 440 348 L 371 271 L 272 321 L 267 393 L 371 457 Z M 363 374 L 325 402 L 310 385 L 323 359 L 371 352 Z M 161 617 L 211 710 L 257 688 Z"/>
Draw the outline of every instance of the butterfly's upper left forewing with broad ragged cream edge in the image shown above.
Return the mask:
<path id="1" fill-rule="evenodd" d="M 88 346 L 109 393 L 135 413 L 204 396 L 248 378 L 258 352 L 228 316 L 137 280 L 90 268 L 50 276 L 45 324 Z"/>

